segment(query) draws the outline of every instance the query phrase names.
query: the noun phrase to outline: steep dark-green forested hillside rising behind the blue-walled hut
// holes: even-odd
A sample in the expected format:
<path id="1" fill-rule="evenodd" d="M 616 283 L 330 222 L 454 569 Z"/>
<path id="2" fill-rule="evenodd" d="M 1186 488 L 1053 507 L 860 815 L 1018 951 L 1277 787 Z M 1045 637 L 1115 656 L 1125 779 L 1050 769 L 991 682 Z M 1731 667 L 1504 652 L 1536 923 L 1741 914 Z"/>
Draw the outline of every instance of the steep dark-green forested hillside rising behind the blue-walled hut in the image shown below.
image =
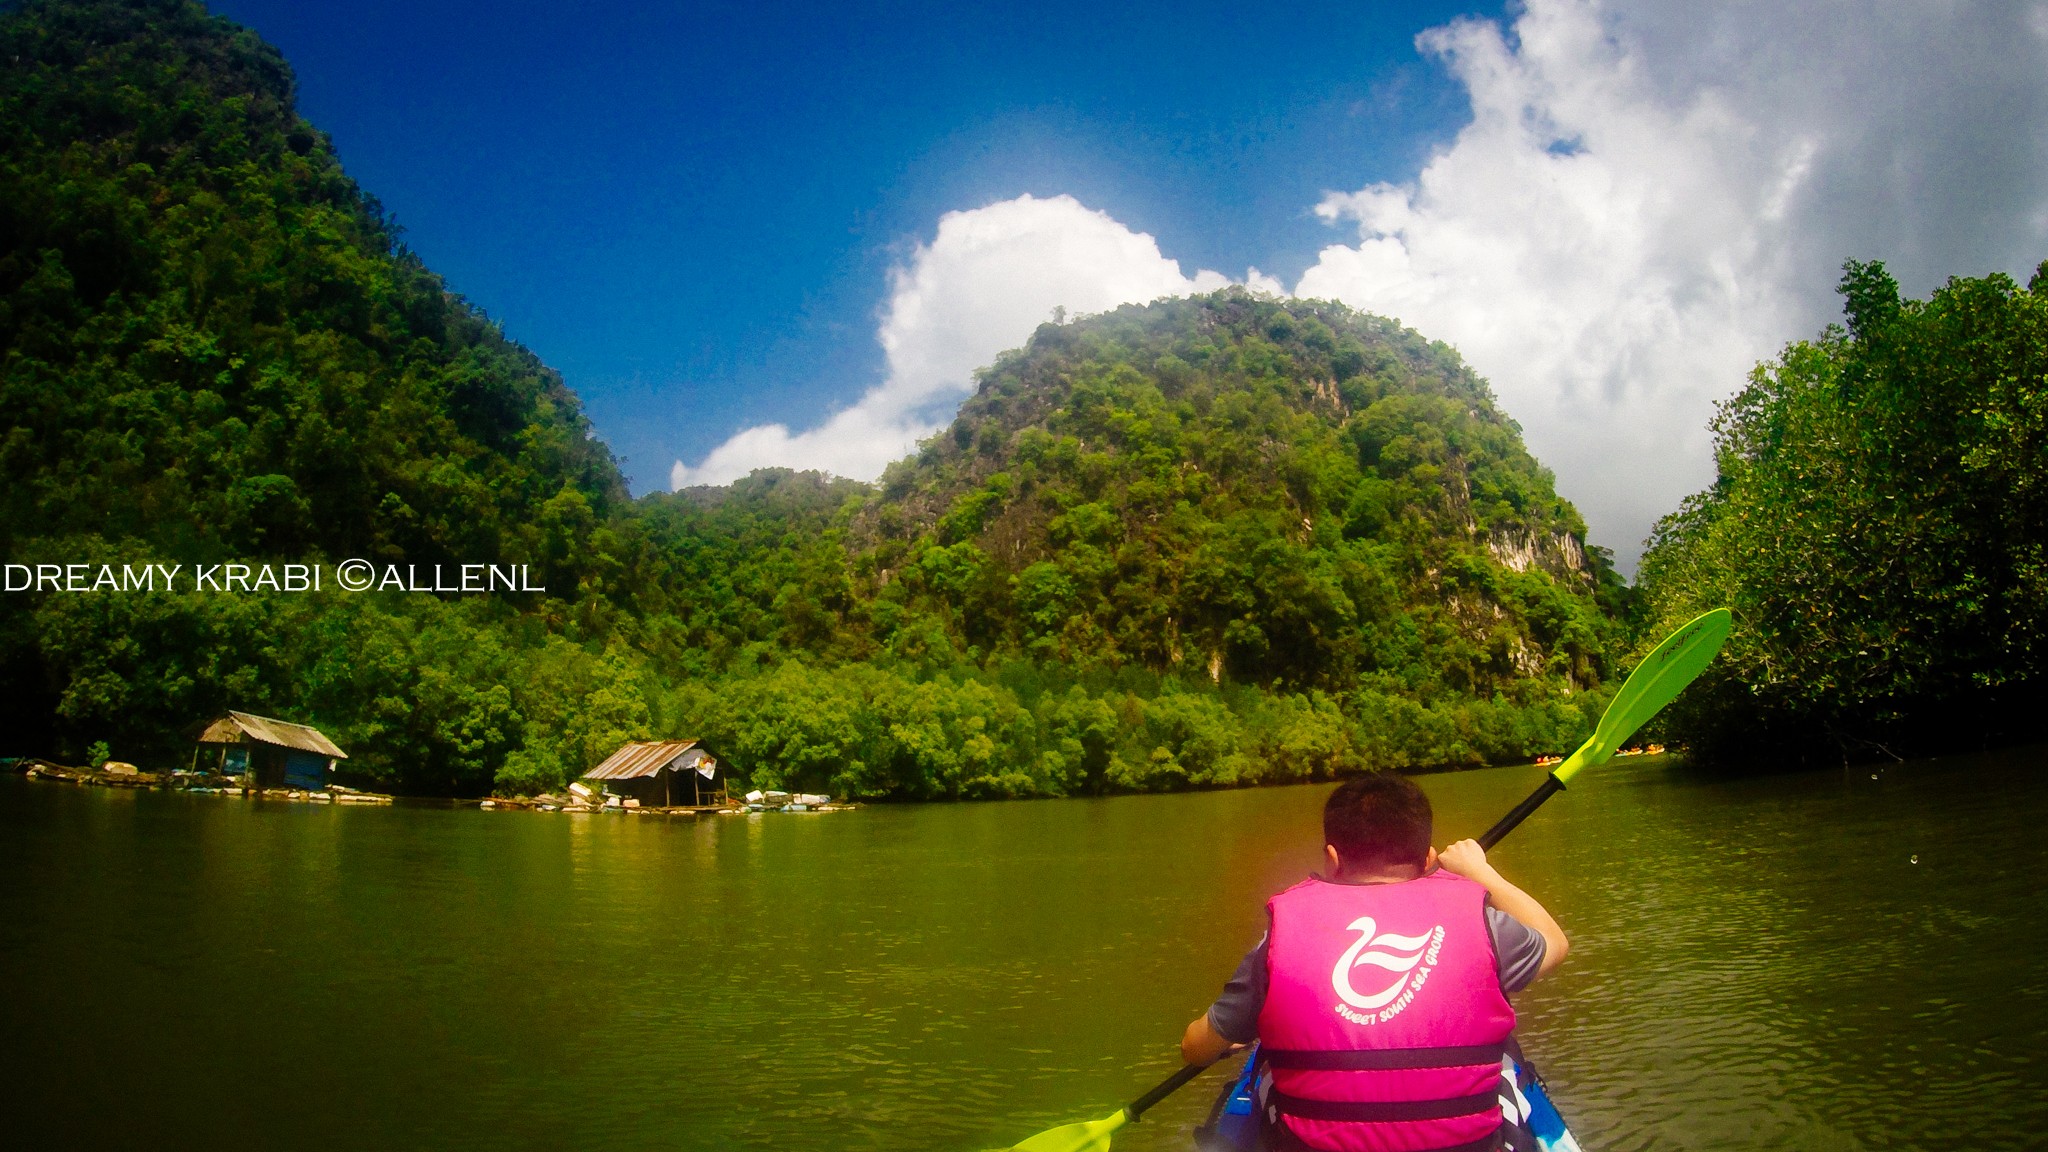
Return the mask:
<path id="1" fill-rule="evenodd" d="M 575 586 L 625 502 L 578 400 L 395 244 L 279 53 L 186 4 L 0 18 L 0 426 L 12 562 L 502 558 Z M 371 763 L 426 752 L 422 787 L 477 779 L 510 715 L 430 652 L 539 611 L 0 603 L 20 750 L 166 760 L 221 707 L 311 709 Z"/>

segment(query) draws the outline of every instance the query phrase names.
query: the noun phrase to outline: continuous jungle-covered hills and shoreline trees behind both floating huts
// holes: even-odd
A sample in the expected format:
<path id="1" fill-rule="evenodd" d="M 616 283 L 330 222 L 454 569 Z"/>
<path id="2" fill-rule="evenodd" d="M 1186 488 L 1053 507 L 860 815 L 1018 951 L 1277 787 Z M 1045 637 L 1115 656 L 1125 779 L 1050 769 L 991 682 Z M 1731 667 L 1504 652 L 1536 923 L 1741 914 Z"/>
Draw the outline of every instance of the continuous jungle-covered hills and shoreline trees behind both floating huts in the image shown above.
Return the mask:
<path id="1" fill-rule="evenodd" d="M 12 592 L 8 754 L 174 767 L 225 707 L 360 779 L 1059 795 L 1567 750 L 1624 590 L 1458 357 L 1241 289 L 1047 324 L 881 484 L 631 500 L 403 248 L 258 37 L 0 8 L 6 562 L 535 566 L 547 592 Z"/>

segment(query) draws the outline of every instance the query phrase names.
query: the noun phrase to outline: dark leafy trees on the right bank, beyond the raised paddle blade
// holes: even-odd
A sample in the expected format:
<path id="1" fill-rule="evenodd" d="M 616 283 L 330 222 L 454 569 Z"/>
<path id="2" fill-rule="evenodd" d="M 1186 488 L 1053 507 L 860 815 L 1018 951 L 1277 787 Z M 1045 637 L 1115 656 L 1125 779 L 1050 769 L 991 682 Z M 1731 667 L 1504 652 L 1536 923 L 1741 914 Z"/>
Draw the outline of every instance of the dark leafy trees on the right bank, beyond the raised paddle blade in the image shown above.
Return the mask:
<path id="1" fill-rule="evenodd" d="M 2048 668 L 2048 264 L 1901 299 L 1757 367 L 1718 478 L 1657 525 L 1651 635 L 1731 605 L 1669 730 L 1712 760 L 1929 754 L 2038 738 Z"/>

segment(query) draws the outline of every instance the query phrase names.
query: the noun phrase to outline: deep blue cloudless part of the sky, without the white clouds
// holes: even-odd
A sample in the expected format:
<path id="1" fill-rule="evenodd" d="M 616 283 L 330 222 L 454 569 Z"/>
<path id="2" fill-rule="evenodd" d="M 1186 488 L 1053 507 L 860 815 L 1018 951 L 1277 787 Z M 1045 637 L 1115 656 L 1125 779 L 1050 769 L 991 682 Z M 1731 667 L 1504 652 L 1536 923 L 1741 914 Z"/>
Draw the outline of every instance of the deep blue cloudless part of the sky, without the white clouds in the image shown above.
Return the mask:
<path id="1" fill-rule="evenodd" d="M 1468 117 L 1413 43 L 1456 4 L 215 10 L 637 492 L 881 379 L 887 273 L 944 211 L 1065 193 L 1190 273 L 1292 277 L 1325 191 L 1413 174 Z"/>

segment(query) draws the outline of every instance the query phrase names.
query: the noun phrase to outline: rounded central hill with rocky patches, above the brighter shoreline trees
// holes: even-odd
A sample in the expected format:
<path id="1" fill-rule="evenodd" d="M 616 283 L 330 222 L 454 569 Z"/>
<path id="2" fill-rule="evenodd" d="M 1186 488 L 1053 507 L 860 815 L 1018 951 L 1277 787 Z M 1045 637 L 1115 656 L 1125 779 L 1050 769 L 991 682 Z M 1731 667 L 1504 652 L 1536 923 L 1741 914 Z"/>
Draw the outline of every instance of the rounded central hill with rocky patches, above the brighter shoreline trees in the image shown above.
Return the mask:
<path id="1" fill-rule="evenodd" d="M 1448 346 L 1227 289 L 1042 326 L 850 543 L 981 652 L 1485 699 L 1599 683 L 1583 537 Z"/>

